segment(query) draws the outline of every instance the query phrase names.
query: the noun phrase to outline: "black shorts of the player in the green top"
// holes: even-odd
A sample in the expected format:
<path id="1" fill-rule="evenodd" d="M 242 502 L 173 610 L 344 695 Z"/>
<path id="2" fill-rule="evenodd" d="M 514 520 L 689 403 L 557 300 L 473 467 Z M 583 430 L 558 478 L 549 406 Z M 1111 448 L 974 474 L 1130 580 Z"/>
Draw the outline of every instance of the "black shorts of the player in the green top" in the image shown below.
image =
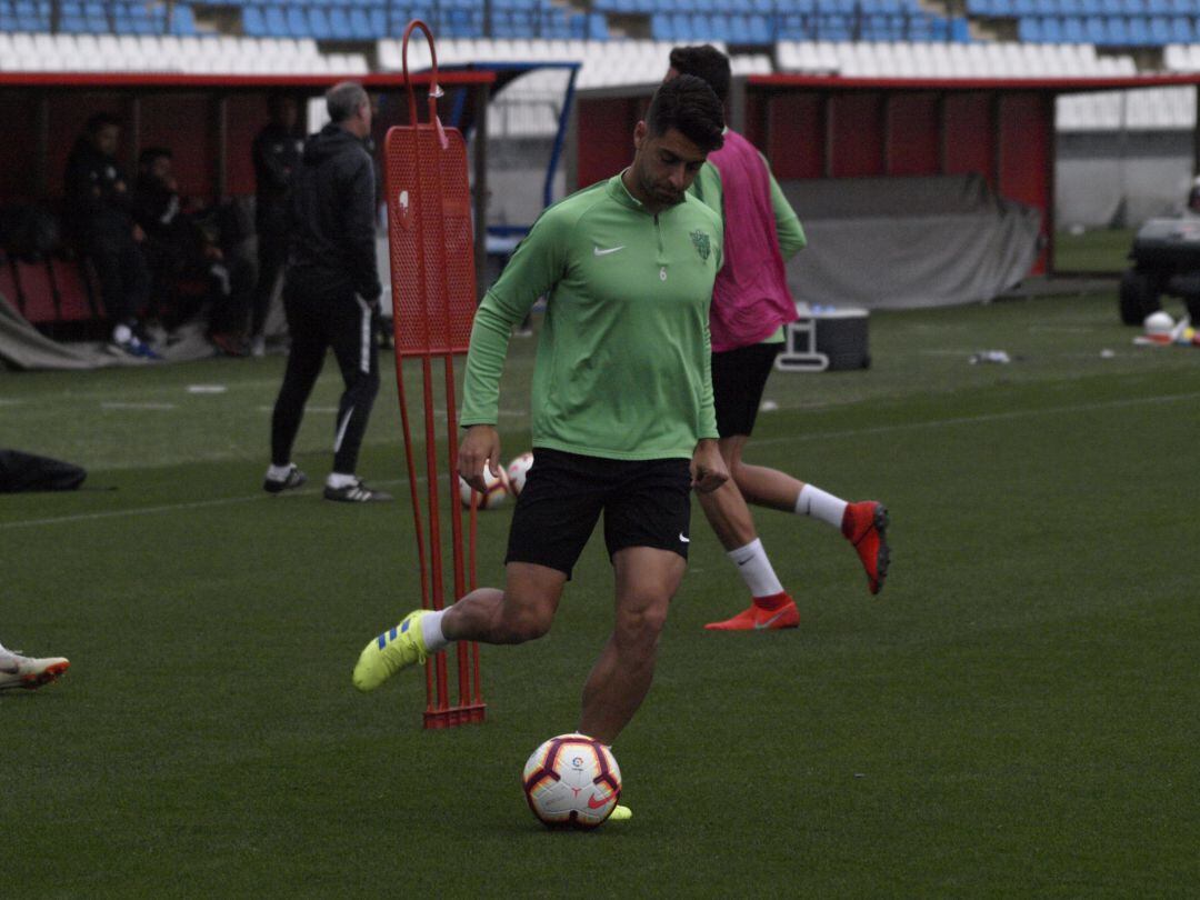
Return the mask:
<path id="1" fill-rule="evenodd" d="M 606 460 L 534 449 L 504 562 L 536 563 L 570 578 L 601 512 L 610 559 L 626 547 L 670 550 L 686 559 L 689 461 Z"/>

